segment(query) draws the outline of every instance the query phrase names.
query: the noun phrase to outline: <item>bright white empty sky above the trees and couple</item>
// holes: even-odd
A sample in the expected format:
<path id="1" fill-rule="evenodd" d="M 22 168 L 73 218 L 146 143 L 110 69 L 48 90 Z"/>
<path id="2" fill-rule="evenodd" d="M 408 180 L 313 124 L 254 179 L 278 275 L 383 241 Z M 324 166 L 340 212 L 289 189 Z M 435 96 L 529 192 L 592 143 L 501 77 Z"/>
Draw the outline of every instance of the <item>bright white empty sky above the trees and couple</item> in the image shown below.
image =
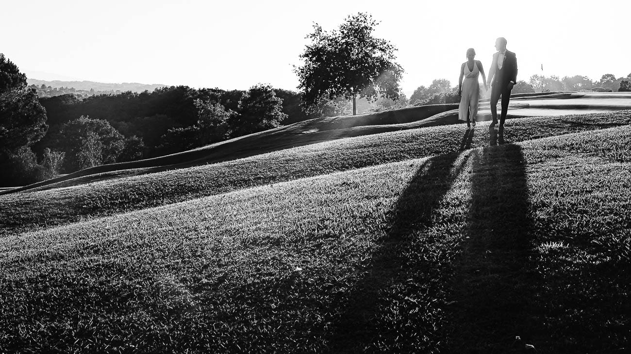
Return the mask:
<path id="1" fill-rule="evenodd" d="M 532 74 L 599 79 L 631 72 L 629 0 L 3 1 L 0 52 L 33 79 L 295 89 L 292 71 L 317 22 L 371 13 L 405 70 L 406 94 L 455 85 L 469 47 L 488 71 L 495 38 Z"/>

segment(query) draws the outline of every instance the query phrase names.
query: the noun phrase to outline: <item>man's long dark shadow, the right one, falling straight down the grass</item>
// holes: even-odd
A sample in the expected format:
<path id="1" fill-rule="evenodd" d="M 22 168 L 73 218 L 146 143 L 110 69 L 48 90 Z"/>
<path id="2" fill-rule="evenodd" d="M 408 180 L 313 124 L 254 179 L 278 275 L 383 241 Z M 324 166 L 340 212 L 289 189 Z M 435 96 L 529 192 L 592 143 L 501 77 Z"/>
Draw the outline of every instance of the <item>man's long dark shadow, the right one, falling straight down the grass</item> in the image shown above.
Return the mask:
<path id="1" fill-rule="evenodd" d="M 521 353 L 532 337 L 534 285 L 521 147 L 490 146 L 471 158 L 468 238 L 454 274 L 447 352 Z"/>

